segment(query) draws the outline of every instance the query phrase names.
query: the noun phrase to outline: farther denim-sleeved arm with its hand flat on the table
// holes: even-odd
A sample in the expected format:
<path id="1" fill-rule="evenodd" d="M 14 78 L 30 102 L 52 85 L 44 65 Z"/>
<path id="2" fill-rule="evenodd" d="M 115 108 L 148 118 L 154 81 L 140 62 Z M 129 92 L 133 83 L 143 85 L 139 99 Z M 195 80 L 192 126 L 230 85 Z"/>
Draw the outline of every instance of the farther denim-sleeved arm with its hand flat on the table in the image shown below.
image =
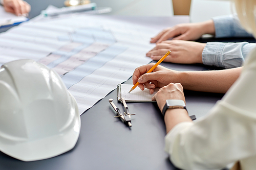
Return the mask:
<path id="1" fill-rule="evenodd" d="M 240 25 L 232 15 L 213 17 L 210 20 L 197 23 L 181 23 L 174 27 L 166 28 L 151 39 L 151 43 L 160 43 L 169 38 L 194 41 L 204 34 L 214 35 L 215 38 L 223 37 L 253 37 Z"/>

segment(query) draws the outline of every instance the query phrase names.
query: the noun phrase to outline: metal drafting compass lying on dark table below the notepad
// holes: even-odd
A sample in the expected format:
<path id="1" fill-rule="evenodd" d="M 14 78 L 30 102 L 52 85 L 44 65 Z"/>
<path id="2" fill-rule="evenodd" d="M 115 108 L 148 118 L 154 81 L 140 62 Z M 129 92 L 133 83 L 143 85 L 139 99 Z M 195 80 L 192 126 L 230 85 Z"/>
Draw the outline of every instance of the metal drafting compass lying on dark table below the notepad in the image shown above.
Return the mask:
<path id="1" fill-rule="evenodd" d="M 121 113 L 120 109 L 118 107 L 116 107 L 116 105 L 113 103 L 113 99 L 109 99 L 109 103 L 116 111 L 116 116 L 114 116 L 114 117 L 119 117 L 123 121 L 124 124 L 126 124 L 129 127 L 132 127 L 131 115 L 135 115 L 135 113 L 131 114 L 129 112 L 129 109 L 128 109 L 128 106 L 126 105 L 125 100 L 122 98 L 122 103 L 123 103 L 123 106 L 125 109 L 125 112 L 123 112 L 123 114 Z"/>

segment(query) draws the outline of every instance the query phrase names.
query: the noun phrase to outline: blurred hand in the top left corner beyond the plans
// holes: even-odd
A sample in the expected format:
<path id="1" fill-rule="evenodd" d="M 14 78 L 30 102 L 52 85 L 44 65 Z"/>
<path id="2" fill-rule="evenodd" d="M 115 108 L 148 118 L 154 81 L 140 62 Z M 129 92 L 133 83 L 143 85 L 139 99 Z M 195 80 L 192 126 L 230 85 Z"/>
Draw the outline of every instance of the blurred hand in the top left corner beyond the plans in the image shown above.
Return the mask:
<path id="1" fill-rule="evenodd" d="M 27 16 L 31 10 L 31 6 L 22 0 L 4 0 L 4 8 L 6 12 L 14 13 L 17 16 Z"/>

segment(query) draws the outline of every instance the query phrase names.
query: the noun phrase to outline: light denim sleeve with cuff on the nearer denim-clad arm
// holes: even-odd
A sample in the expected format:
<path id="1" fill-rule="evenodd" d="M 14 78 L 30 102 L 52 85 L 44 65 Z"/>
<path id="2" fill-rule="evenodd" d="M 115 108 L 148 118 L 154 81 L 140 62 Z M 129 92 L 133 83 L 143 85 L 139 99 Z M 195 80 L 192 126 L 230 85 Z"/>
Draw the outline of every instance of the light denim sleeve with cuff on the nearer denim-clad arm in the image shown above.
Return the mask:
<path id="1" fill-rule="evenodd" d="M 240 67 L 254 47 L 256 43 L 207 42 L 202 53 L 203 64 L 223 68 Z"/>

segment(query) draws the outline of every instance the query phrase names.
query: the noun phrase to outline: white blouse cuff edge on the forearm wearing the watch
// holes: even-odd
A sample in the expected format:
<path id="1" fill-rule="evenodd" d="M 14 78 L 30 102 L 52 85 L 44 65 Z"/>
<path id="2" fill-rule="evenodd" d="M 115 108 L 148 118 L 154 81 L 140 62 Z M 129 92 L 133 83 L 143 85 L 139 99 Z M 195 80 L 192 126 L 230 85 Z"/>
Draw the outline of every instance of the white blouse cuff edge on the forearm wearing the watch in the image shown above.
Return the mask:
<path id="1" fill-rule="evenodd" d="M 165 136 L 165 152 L 171 155 L 173 153 L 175 136 L 177 136 L 177 134 L 180 133 L 180 131 L 182 131 L 183 129 L 187 129 L 193 125 L 193 122 L 182 122 L 173 127 L 173 129 L 170 130 Z"/>

